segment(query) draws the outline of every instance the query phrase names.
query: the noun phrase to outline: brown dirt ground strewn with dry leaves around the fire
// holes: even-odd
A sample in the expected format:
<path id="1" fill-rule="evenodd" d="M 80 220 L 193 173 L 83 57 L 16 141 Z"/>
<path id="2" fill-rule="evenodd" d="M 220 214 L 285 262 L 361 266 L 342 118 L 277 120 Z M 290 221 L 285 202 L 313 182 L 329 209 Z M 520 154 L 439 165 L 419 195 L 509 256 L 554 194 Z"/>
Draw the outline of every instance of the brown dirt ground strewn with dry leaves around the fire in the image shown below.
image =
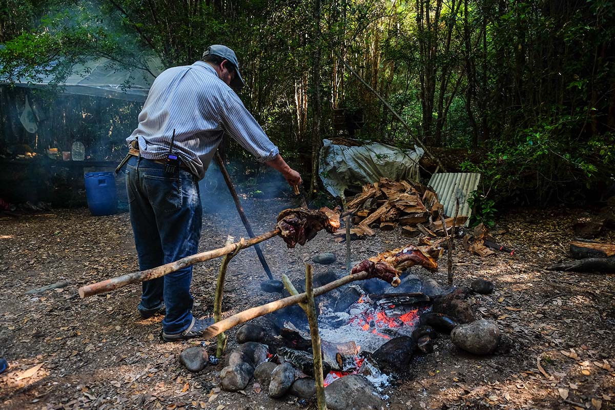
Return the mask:
<path id="1" fill-rule="evenodd" d="M 282 200 L 247 203 L 257 234 L 268 231 Z M 501 215 L 509 232 L 499 237 L 517 253 L 478 258 L 454 252 L 454 284 L 483 277 L 496 285 L 474 297 L 477 316 L 497 320 L 504 337 L 491 357 L 462 353 L 440 337 L 431 355 L 417 355 L 410 374 L 386 390 L 391 409 L 608 409 L 615 402 L 614 275 L 549 272 L 567 259 L 577 210 L 525 210 Z M 296 409 L 314 408 L 292 396 L 269 398 L 266 388 L 229 393 L 218 387 L 222 364 L 191 374 L 178 361 L 190 343 L 162 343 L 161 317 L 141 320 L 140 286 L 79 299 L 77 288 L 137 270 L 127 214 L 93 217 L 87 209 L 0 216 L 0 374 L 2 409 Z M 245 235 L 235 212 L 204 215 L 200 250 Z M 615 242 L 610 232 L 603 240 Z M 352 260 L 416 239 L 376 232 L 352 242 Z M 333 251 L 344 269 L 344 245 L 321 232 L 306 246 L 287 250 L 279 238 L 263 243 L 274 275 L 303 275 L 303 262 Z M 445 260 L 445 259 L 444 259 Z M 210 315 L 220 261 L 194 269 L 197 316 Z M 426 273 L 423 271 L 422 273 Z M 445 262 L 433 277 L 446 283 Z M 252 249 L 231 261 L 223 301 L 231 315 L 269 300 Z M 71 285 L 38 295 L 25 291 L 60 280 Z M 229 333 L 229 349 L 234 347 Z M 215 351 L 215 342 L 207 341 Z"/>

